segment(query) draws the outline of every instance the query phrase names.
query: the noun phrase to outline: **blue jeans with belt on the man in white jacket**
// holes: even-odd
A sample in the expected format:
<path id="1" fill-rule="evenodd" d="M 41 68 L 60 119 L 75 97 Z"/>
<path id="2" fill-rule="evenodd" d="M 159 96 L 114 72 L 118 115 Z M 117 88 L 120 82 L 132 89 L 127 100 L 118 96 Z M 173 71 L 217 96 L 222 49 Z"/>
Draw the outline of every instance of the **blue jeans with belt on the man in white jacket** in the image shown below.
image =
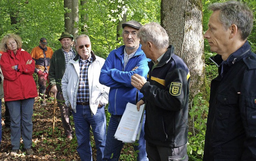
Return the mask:
<path id="1" fill-rule="evenodd" d="M 98 108 L 95 115 L 92 114 L 89 105 L 76 105 L 76 113 L 72 112 L 78 142 L 76 150 L 80 159 L 82 161 L 92 161 L 92 147 L 90 144 L 90 126 L 92 126 L 97 149 L 97 161 L 101 161 L 106 143 L 106 115 L 104 106 Z"/>

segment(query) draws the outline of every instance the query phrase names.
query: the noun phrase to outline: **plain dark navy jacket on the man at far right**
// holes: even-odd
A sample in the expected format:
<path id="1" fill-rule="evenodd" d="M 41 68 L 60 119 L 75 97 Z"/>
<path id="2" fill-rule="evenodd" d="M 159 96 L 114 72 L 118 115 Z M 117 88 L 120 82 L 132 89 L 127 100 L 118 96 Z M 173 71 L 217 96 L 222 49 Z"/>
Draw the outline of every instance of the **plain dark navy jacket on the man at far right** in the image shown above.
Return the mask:
<path id="1" fill-rule="evenodd" d="M 256 55 L 246 41 L 216 64 L 219 75 L 211 82 L 204 161 L 256 160 Z"/>

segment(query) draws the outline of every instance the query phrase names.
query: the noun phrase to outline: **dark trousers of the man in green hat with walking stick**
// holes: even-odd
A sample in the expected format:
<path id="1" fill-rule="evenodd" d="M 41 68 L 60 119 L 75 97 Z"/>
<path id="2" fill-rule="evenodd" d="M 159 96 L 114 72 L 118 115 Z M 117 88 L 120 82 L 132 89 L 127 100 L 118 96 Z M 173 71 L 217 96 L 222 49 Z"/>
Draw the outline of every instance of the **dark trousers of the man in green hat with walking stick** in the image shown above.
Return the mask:
<path id="1" fill-rule="evenodd" d="M 60 108 L 60 114 L 61 114 L 61 120 L 64 128 L 64 132 L 66 136 L 69 136 L 69 135 L 72 136 L 73 131 L 72 131 L 70 118 L 69 118 L 70 108 L 66 106 L 62 92 L 57 92 L 56 98 L 57 98 L 58 106 Z"/>

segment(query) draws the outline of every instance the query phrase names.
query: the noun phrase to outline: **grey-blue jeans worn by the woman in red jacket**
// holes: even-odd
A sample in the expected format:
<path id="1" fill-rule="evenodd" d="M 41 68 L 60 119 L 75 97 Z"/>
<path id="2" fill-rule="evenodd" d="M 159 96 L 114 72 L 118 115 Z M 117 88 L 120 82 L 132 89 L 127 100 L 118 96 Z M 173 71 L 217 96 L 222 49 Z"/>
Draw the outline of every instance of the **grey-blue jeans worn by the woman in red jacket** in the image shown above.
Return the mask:
<path id="1" fill-rule="evenodd" d="M 28 98 L 6 102 L 11 118 L 10 128 L 12 149 L 20 149 L 21 134 L 24 148 L 30 148 L 32 145 L 32 115 L 34 101 L 35 98 Z"/>

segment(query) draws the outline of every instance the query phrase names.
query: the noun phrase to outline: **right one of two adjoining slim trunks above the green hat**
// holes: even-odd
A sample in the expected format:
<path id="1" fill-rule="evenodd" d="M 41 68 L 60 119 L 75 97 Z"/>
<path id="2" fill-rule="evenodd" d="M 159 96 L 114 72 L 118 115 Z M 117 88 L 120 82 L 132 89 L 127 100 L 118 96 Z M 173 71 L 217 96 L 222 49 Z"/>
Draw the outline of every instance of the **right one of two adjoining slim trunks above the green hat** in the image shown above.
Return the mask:
<path id="1" fill-rule="evenodd" d="M 79 15 L 78 15 L 78 0 L 72 0 L 72 32 L 71 34 L 74 35 L 74 38 L 78 35 L 78 23 L 79 23 Z"/>

